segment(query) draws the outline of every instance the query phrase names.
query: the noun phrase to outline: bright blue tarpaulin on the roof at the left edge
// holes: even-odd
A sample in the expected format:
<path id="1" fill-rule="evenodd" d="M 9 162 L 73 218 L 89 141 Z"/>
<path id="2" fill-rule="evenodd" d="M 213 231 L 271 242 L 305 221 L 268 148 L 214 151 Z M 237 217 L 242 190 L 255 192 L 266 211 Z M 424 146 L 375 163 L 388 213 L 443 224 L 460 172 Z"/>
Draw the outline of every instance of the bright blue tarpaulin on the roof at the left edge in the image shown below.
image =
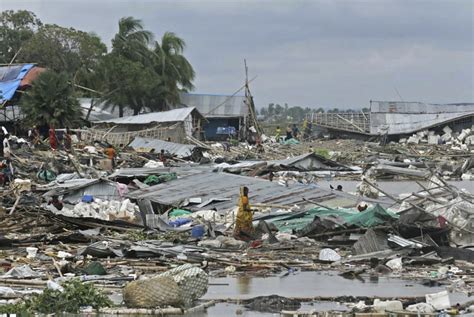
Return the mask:
<path id="1" fill-rule="evenodd" d="M 33 64 L 0 67 L 0 103 L 13 98 L 21 80 Z"/>

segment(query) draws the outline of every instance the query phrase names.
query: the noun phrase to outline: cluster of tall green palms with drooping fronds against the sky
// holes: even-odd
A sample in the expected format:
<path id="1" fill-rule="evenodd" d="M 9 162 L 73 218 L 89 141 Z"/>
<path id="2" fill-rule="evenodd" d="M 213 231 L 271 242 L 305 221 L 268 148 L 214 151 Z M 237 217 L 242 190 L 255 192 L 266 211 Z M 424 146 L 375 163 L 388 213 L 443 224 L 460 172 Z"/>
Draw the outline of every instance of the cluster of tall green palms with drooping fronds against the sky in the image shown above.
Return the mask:
<path id="1" fill-rule="evenodd" d="M 134 114 L 166 110 L 179 104 L 180 91 L 194 88 L 194 70 L 183 56 L 184 40 L 171 32 L 160 42 L 152 43 L 152 38 L 140 20 L 122 18 L 112 52 L 102 61 L 103 99 L 118 107 L 120 116 L 126 107 Z"/>

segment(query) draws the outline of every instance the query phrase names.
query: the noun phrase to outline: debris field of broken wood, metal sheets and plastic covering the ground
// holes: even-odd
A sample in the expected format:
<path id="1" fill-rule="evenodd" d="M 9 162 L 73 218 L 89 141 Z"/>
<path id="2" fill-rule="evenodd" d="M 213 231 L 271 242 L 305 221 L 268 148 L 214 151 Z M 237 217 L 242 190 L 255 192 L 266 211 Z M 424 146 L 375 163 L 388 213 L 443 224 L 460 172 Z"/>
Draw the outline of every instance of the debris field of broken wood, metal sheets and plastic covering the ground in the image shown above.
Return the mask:
<path id="1" fill-rule="evenodd" d="M 71 152 L 51 152 L 12 138 L 0 178 L 1 303 L 19 309 L 11 305 L 79 280 L 115 298 L 116 307 L 94 306 L 101 313 L 185 314 L 215 304 L 202 299 L 214 277 L 337 270 L 446 287 L 355 310 L 454 309 L 448 291 L 473 293 L 474 196 L 472 184 L 448 180 L 472 180 L 473 130 L 422 131 L 385 146 L 268 138 L 263 150 L 137 137 L 112 159 L 101 142 L 77 138 Z M 378 184 L 407 179 L 419 189 Z M 360 181 L 357 193 L 339 180 Z M 241 186 L 254 210 L 249 242 L 232 234 Z M 278 313 L 300 303 L 275 295 L 244 304 Z"/>

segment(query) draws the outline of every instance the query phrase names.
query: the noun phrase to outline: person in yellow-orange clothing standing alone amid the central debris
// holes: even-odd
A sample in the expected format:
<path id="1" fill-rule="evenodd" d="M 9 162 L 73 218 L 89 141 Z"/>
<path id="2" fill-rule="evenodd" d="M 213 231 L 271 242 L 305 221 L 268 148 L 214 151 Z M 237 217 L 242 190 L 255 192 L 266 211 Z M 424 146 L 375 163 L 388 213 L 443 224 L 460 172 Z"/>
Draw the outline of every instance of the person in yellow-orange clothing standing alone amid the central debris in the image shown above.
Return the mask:
<path id="1" fill-rule="evenodd" d="M 239 211 L 235 220 L 234 238 L 243 241 L 253 240 L 255 229 L 252 225 L 253 214 L 249 203 L 248 187 L 240 188 Z"/>

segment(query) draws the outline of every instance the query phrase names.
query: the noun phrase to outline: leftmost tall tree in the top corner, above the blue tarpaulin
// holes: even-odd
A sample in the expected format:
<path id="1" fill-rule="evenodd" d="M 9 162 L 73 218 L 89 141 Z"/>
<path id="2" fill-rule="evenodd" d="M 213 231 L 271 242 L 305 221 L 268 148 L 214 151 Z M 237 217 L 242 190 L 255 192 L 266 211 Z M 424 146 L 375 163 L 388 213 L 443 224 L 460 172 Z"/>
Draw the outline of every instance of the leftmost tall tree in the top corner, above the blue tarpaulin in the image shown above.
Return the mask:
<path id="1" fill-rule="evenodd" d="M 0 63 L 10 63 L 40 26 L 41 21 L 33 12 L 3 11 L 0 14 Z"/>

